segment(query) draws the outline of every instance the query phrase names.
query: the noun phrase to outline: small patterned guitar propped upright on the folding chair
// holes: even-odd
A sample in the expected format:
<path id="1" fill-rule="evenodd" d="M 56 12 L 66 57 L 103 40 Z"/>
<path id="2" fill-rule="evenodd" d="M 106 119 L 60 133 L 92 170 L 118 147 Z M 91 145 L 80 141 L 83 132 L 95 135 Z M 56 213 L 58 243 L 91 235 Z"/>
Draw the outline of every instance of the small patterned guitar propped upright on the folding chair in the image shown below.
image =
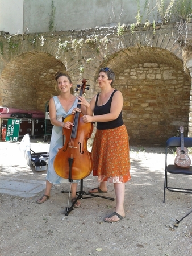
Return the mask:
<path id="1" fill-rule="evenodd" d="M 174 164 L 180 168 L 189 168 L 191 165 L 191 159 L 188 156 L 188 150 L 184 146 L 184 127 L 180 126 L 180 137 L 181 137 L 181 146 L 177 147 L 176 151 L 176 159 L 174 160 Z"/>

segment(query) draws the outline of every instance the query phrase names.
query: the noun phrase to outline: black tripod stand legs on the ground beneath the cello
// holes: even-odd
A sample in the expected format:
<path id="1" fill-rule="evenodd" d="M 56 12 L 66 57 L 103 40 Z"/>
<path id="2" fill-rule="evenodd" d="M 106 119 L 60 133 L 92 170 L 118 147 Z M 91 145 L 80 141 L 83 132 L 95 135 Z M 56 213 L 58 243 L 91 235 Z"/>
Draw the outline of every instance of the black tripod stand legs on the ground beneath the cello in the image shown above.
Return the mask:
<path id="1" fill-rule="evenodd" d="M 69 193 L 69 191 L 62 190 L 61 193 Z M 66 207 L 65 208 L 65 216 L 68 216 L 69 213 L 72 210 L 74 210 L 73 206 L 77 202 L 78 199 L 87 199 L 87 198 L 91 198 L 91 197 L 101 197 L 101 198 L 112 200 L 112 201 L 115 200 L 114 197 L 101 196 L 101 195 L 98 195 L 98 194 L 85 192 L 84 189 L 83 189 L 83 179 L 81 179 L 80 191 L 76 192 L 76 194 L 77 194 L 77 198 L 76 198 L 76 200 L 73 201 L 71 207 L 69 207 L 69 208 Z M 89 195 L 89 196 L 83 197 L 83 195 Z"/>

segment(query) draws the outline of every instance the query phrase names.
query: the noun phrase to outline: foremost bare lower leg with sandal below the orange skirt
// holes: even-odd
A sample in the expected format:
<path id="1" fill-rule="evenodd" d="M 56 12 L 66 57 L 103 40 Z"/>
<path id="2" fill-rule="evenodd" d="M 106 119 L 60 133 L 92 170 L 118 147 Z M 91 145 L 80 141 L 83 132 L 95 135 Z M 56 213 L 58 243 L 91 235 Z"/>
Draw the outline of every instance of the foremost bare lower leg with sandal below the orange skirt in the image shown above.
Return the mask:
<path id="1" fill-rule="evenodd" d="M 125 184 L 124 183 L 114 183 L 115 196 L 116 196 L 116 208 L 115 212 L 125 217 L 124 212 L 124 192 L 125 192 Z M 105 218 L 105 220 L 109 221 L 118 221 L 119 217 L 114 215 L 110 218 Z"/>

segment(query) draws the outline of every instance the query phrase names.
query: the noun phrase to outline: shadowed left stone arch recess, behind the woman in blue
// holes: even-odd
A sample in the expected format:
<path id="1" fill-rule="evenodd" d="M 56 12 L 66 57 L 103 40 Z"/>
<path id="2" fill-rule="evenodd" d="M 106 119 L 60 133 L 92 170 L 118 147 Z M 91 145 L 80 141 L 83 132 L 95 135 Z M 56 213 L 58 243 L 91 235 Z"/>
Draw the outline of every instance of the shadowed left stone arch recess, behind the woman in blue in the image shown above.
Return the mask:
<path id="1" fill-rule="evenodd" d="M 12 59 L 1 74 L 0 105 L 44 111 L 45 103 L 56 94 L 58 70 L 66 71 L 64 64 L 45 52 L 26 52 Z"/>

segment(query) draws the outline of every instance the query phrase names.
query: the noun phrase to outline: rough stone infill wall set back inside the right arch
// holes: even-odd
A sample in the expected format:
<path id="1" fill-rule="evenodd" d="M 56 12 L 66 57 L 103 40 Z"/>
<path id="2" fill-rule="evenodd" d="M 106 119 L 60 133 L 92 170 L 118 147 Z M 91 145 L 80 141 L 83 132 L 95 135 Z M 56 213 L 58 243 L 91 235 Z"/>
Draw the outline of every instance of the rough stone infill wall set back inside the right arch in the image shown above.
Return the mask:
<path id="1" fill-rule="evenodd" d="M 135 64 L 123 69 L 116 84 L 124 96 L 123 118 L 132 143 L 161 144 L 183 124 L 187 131 L 190 81 L 180 70 Z"/>

